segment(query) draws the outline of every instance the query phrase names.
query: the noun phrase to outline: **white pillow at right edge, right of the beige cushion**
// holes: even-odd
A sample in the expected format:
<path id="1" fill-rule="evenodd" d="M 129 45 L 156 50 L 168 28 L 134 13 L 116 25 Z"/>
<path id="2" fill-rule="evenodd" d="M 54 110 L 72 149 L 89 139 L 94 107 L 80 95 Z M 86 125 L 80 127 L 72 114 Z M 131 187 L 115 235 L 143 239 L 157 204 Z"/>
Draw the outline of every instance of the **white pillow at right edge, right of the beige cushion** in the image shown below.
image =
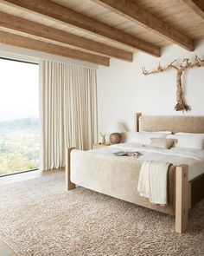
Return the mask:
<path id="1" fill-rule="evenodd" d="M 197 148 L 204 149 L 204 135 L 177 133 L 168 135 L 169 139 L 176 139 L 175 148 Z"/>

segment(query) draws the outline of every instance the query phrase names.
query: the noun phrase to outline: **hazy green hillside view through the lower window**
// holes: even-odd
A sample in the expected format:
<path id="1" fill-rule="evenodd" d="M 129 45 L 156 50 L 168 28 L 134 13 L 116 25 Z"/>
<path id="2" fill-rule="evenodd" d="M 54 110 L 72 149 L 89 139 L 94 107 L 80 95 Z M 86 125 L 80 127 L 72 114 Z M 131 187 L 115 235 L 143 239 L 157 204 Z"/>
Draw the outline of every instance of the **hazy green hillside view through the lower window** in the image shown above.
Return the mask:
<path id="1" fill-rule="evenodd" d="M 0 175 L 38 168 L 38 120 L 0 122 Z"/>

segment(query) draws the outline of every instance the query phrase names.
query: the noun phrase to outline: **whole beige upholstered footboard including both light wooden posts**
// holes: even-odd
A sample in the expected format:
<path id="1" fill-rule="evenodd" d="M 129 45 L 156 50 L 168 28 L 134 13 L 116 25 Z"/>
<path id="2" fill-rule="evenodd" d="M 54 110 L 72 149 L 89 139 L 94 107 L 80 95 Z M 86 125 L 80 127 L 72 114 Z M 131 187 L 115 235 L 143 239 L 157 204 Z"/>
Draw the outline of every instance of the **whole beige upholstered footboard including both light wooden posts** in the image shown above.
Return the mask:
<path id="1" fill-rule="evenodd" d="M 137 194 L 137 180 L 141 163 L 126 162 L 123 158 L 118 158 L 116 161 L 116 159 L 112 160 L 112 157 L 110 158 L 107 155 L 92 154 L 80 150 L 74 150 L 71 163 L 73 149 L 66 148 L 67 190 L 75 188 L 73 183 L 75 182 L 77 185 L 99 193 L 108 194 L 159 212 L 169 213 L 175 215 L 175 232 L 182 233 L 187 230 L 188 208 L 190 208 L 191 199 L 191 194 L 188 193 L 190 192 L 190 187 L 187 165 L 170 168 L 169 178 L 171 177 L 171 181 L 169 180 L 169 185 L 172 184 L 170 190 L 173 194 L 175 191 L 174 200 L 171 201 L 169 206 L 162 207 L 150 204 L 149 200 Z M 73 171 L 72 174 L 71 170 Z M 175 179 L 173 179 L 174 174 Z"/>

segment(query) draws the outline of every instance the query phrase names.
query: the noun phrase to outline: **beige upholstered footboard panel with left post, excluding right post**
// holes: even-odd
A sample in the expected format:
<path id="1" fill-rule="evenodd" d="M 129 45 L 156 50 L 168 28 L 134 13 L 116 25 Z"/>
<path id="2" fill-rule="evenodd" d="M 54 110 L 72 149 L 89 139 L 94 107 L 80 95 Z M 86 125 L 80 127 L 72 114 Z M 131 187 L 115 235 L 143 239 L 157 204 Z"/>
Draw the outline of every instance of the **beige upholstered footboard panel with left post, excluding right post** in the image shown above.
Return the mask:
<path id="1" fill-rule="evenodd" d="M 73 148 L 72 148 L 73 149 Z M 68 150 L 67 189 L 73 189 L 73 183 L 108 194 L 139 206 L 175 215 L 175 166 L 169 169 L 168 190 L 169 205 L 166 207 L 151 204 L 137 192 L 141 161 L 136 159 L 113 158 L 111 155 L 90 153 L 81 150 Z"/>

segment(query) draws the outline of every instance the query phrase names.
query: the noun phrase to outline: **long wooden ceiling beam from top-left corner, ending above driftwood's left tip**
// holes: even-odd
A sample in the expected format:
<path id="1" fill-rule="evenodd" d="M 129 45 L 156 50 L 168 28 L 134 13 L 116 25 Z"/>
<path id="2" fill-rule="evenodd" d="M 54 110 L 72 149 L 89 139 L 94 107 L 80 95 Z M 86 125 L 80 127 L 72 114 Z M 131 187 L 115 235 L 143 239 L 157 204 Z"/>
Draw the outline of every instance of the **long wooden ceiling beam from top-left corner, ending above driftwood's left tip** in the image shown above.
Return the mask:
<path id="1" fill-rule="evenodd" d="M 26 10 L 28 13 L 46 16 L 46 18 L 54 20 L 55 22 L 57 21 L 59 23 L 72 25 L 79 30 L 89 31 L 95 35 L 103 36 L 114 42 L 128 45 L 131 48 L 139 49 L 153 56 L 161 56 L 161 49 L 158 46 L 145 42 L 124 31 L 113 28 L 105 23 L 101 23 L 89 16 L 82 15 L 52 1 L 0 0 L 0 3 Z"/>

